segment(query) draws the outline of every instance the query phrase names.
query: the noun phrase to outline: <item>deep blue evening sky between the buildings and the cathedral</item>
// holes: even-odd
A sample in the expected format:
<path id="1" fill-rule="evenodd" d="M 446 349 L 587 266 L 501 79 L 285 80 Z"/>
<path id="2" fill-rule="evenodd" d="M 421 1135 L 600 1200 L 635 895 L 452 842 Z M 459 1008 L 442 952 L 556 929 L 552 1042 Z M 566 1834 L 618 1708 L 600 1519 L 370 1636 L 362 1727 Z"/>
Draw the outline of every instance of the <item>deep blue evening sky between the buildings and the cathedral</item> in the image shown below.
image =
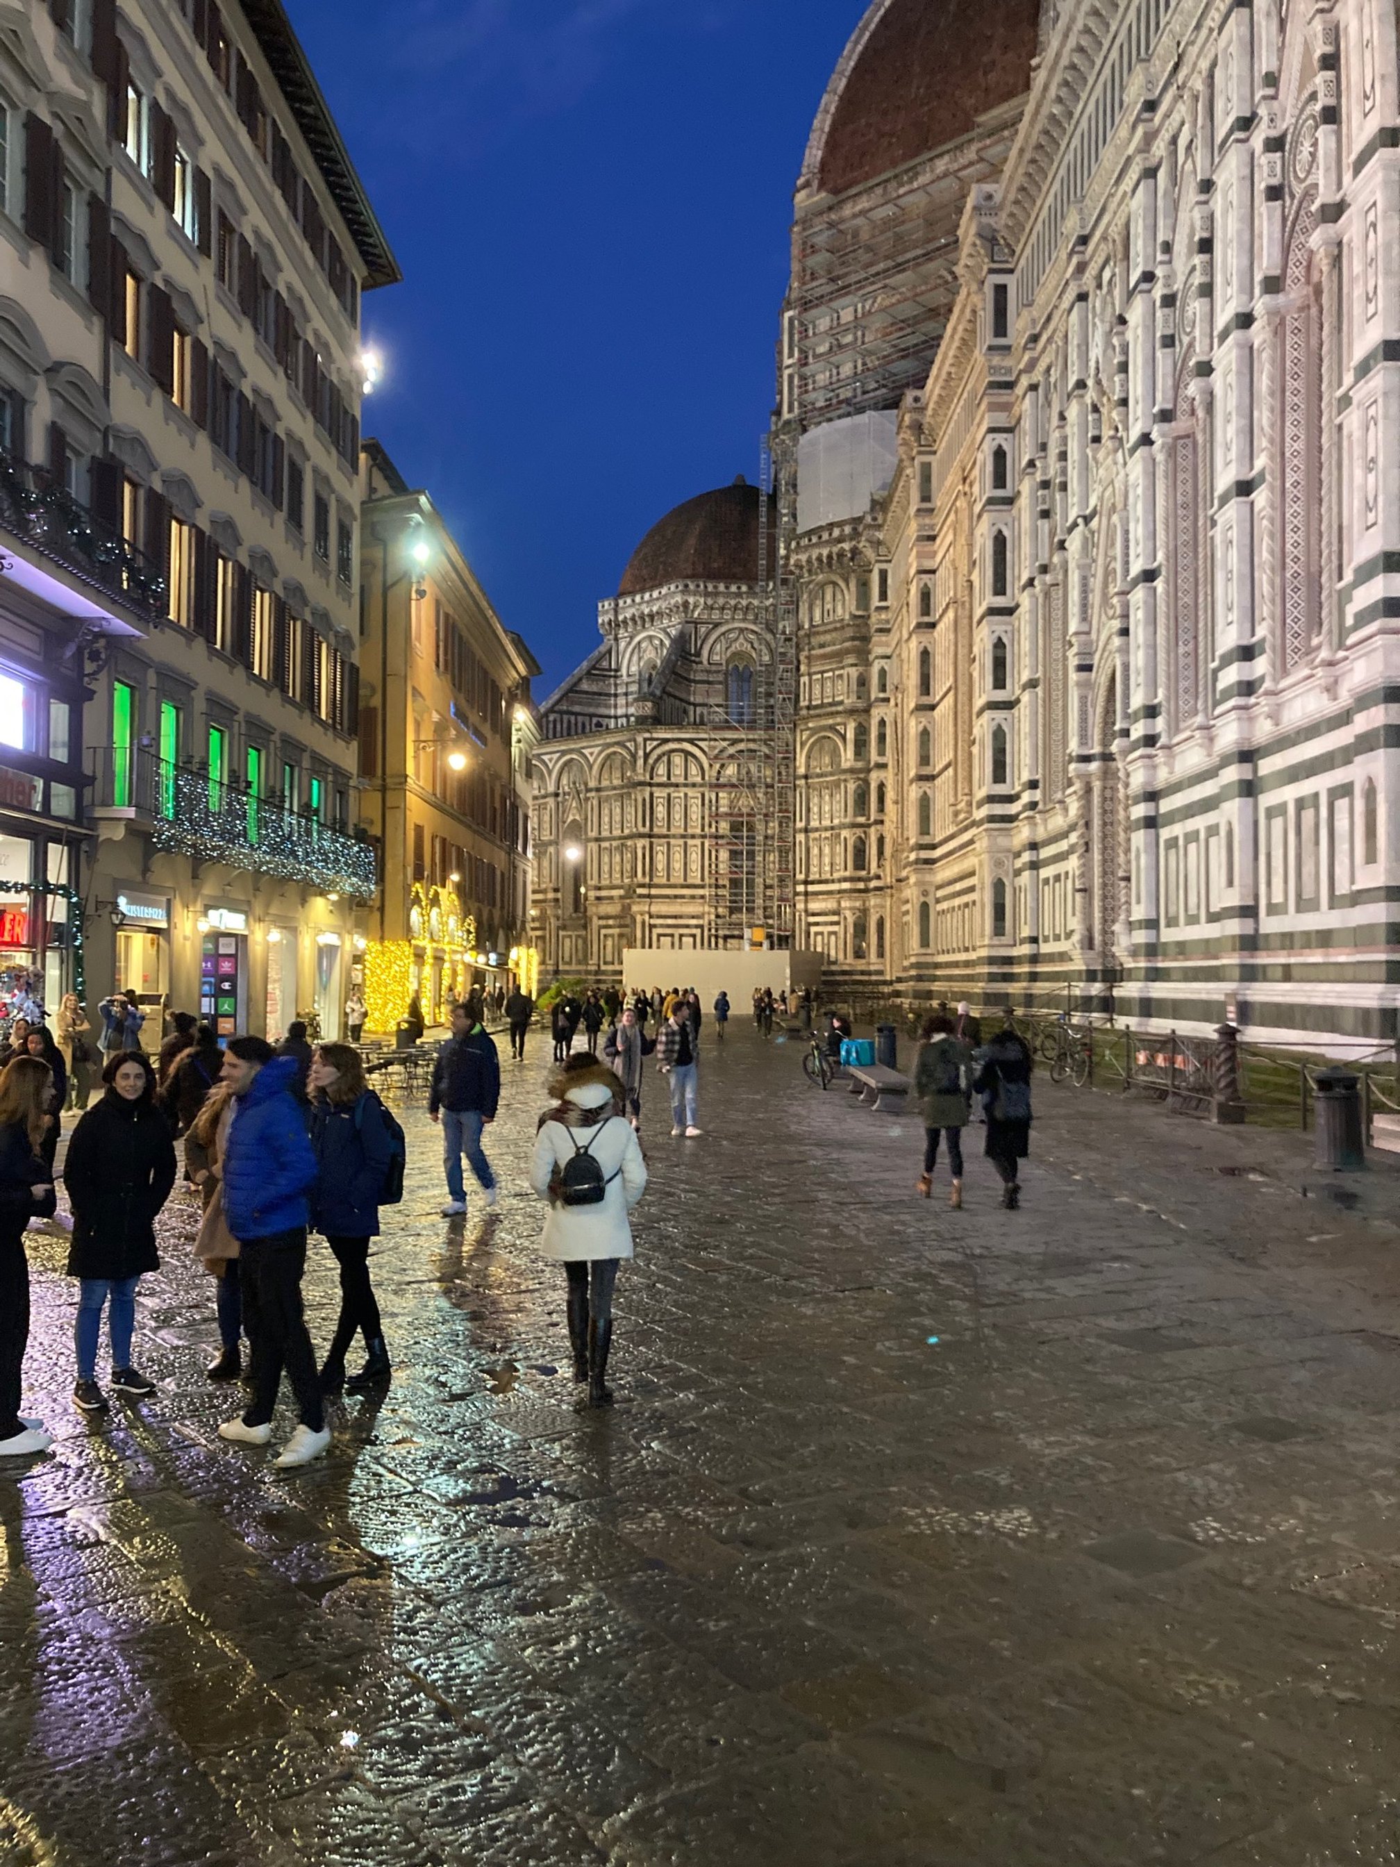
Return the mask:
<path id="1" fill-rule="evenodd" d="M 364 407 L 543 698 L 773 403 L 791 189 L 864 0 L 289 0 L 403 269 Z"/>

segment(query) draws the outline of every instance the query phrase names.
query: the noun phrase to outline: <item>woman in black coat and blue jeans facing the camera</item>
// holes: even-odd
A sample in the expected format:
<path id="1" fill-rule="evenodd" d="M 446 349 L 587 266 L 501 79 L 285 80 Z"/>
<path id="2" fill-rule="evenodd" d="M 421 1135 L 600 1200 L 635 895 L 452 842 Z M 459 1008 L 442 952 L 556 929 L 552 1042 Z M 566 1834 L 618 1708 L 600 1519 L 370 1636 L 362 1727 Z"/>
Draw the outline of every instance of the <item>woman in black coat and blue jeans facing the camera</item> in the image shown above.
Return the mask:
<path id="1" fill-rule="evenodd" d="M 73 1206 L 69 1277 L 78 1279 L 73 1339 L 78 1380 L 73 1398 L 90 1413 L 106 1406 L 97 1385 L 97 1339 L 103 1307 L 112 1335 L 112 1387 L 153 1395 L 131 1365 L 136 1284 L 161 1268 L 155 1215 L 175 1184 L 175 1144 L 155 1105 L 155 1070 L 140 1051 L 118 1051 L 103 1070 L 103 1100 L 78 1120 L 67 1144 L 63 1186 Z"/>

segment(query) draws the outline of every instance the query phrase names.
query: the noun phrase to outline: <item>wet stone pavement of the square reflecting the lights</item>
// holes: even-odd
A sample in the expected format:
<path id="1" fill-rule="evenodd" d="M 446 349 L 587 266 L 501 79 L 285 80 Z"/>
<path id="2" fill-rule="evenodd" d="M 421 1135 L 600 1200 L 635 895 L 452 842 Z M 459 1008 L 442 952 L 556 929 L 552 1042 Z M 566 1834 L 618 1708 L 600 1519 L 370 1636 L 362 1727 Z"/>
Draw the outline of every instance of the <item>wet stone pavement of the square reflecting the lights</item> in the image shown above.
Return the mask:
<path id="1" fill-rule="evenodd" d="M 497 1214 L 437 1217 L 405 1115 L 396 1378 L 308 1471 L 215 1436 L 187 1200 L 142 1292 L 159 1393 L 106 1419 L 34 1240 L 60 1439 L 0 1475 L 0 1861 L 1398 1858 L 1393 1227 L 1299 1199 L 1273 1137 L 1043 1083 L 1023 1210 L 971 1130 L 954 1214 L 913 1197 L 915 1120 L 707 1031 L 702 1141 L 648 1081 L 618 1406 L 579 1415 L 534 1051 Z"/>

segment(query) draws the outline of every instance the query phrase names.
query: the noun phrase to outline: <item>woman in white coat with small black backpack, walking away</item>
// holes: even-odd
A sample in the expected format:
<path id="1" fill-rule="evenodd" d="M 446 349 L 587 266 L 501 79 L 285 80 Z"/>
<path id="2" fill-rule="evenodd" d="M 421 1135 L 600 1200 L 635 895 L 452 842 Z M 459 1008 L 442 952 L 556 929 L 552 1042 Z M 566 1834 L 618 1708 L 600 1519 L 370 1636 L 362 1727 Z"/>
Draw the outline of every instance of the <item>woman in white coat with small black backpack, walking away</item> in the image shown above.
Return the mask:
<path id="1" fill-rule="evenodd" d="M 539 1116 L 530 1161 L 530 1186 L 549 1200 L 539 1249 L 569 1279 L 573 1378 L 588 1382 L 588 1406 L 612 1406 L 605 1382 L 612 1284 L 633 1255 L 627 1215 L 646 1191 L 646 1161 L 618 1109 L 620 1088 L 597 1059 L 571 1057 L 549 1079 L 556 1105 Z"/>

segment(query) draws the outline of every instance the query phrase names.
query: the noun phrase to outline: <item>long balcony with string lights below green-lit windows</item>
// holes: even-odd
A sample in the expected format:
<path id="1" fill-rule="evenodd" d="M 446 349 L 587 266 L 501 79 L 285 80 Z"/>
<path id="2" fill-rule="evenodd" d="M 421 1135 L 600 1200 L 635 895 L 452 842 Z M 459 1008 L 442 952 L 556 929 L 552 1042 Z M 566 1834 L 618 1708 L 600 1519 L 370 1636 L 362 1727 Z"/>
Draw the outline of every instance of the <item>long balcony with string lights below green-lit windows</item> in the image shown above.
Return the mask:
<path id="1" fill-rule="evenodd" d="M 131 821 L 149 835 L 153 849 L 302 881 L 321 894 L 368 902 L 375 892 L 375 851 L 362 835 L 330 829 L 287 810 L 280 799 L 213 779 L 207 767 L 172 765 L 149 751 L 121 752 L 106 745 L 90 749 L 88 771 L 91 814 Z"/>

